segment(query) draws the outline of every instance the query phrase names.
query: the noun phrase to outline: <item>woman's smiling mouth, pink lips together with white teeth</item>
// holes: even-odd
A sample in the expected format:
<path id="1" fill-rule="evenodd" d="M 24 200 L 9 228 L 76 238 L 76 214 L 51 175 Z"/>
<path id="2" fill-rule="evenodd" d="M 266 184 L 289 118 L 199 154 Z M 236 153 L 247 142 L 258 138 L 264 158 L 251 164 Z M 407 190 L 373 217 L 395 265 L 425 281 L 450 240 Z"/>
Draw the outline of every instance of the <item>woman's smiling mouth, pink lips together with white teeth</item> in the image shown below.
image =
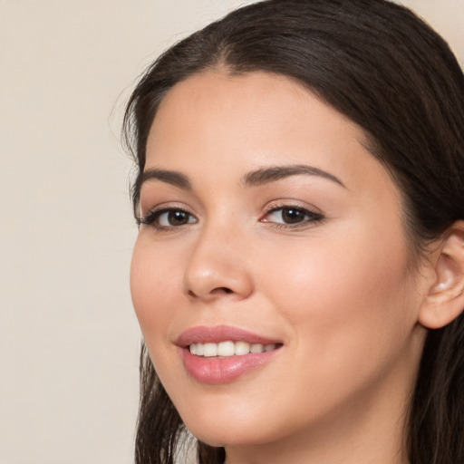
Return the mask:
<path id="1" fill-rule="evenodd" d="M 284 346 L 278 339 L 224 325 L 193 327 L 176 344 L 189 376 L 208 384 L 233 382 L 256 371 L 272 362 Z"/>

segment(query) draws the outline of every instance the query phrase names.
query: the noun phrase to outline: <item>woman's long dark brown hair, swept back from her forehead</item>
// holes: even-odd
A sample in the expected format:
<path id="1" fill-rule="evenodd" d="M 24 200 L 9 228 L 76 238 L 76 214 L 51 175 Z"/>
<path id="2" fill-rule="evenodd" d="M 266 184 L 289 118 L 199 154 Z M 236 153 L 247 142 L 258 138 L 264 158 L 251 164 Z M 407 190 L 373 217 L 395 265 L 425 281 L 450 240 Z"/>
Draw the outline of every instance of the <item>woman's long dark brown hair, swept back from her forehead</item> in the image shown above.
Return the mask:
<path id="1" fill-rule="evenodd" d="M 156 111 L 178 82 L 208 69 L 283 74 L 359 124 L 372 155 L 401 189 L 415 256 L 464 219 L 464 76 L 449 46 L 415 14 L 386 0 L 266 0 L 174 45 L 143 75 L 124 134 L 138 175 Z M 137 216 L 137 214 L 136 214 Z M 464 316 L 430 331 L 412 394 L 411 464 L 464 462 Z M 182 420 L 143 348 L 136 462 L 172 463 Z M 198 442 L 198 461 L 223 462 Z"/>

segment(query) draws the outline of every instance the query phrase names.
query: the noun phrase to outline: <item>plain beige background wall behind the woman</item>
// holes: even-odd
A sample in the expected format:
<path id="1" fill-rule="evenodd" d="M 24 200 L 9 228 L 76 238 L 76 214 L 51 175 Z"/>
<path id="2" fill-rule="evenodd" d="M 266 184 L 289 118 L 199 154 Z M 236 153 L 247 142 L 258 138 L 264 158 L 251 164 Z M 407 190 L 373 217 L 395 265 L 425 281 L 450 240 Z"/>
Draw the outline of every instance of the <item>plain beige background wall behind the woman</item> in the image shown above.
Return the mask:
<path id="1" fill-rule="evenodd" d="M 121 108 L 151 58 L 244 3 L 0 0 L 0 463 L 132 461 Z M 464 0 L 404 3 L 464 63 Z"/>

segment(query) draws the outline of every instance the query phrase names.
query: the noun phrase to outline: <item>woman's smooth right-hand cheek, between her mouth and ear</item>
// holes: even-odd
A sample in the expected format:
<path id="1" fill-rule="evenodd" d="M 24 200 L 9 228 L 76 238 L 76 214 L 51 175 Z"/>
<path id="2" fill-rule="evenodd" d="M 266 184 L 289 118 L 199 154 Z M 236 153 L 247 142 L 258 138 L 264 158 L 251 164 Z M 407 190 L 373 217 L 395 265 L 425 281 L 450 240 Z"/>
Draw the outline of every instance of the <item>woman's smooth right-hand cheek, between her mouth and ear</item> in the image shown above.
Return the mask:
<path id="1" fill-rule="evenodd" d="M 415 324 L 401 229 L 361 225 L 349 232 L 287 244 L 275 260 L 280 271 L 264 275 L 297 352 L 311 356 L 328 382 L 333 372 L 388 362 L 391 346 L 401 350 Z"/>

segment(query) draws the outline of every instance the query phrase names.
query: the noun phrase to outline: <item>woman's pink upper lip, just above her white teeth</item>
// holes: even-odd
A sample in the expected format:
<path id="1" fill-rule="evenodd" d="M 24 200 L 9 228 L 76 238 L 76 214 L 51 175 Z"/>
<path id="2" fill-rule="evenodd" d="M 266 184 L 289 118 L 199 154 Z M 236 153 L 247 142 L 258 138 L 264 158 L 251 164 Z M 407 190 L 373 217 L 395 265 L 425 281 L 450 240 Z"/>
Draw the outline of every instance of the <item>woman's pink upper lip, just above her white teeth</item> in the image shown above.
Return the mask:
<path id="1" fill-rule="evenodd" d="M 182 348 L 186 348 L 191 343 L 220 343 L 226 341 L 261 344 L 282 343 L 277 339 L 228 325 L 197 325 L 191 327 L 181 333 L 175 343 Z"/>

